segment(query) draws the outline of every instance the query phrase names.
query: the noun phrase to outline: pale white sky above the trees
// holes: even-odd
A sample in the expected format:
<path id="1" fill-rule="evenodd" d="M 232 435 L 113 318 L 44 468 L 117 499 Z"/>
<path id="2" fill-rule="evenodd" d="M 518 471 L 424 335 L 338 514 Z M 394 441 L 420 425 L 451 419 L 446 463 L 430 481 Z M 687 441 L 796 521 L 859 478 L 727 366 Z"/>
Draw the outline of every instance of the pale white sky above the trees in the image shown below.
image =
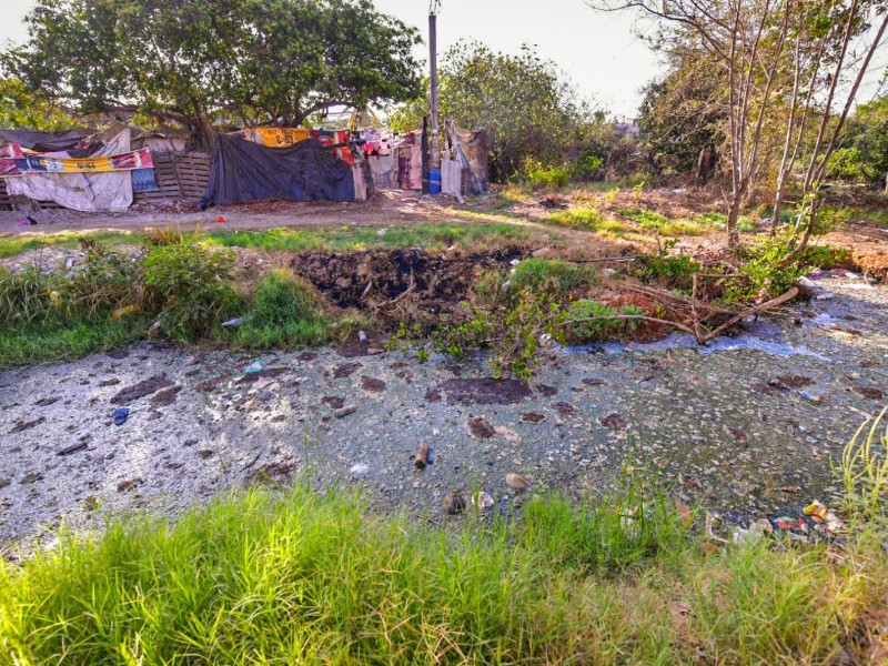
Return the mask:
<path id="1" fill-rule="evenodd" d="M 0 0 L 0 42 L 27 37 L 22 18 L 33 0 Z M 420 28 L 427 37 L 428 0 L 375 0 L 380 11 Z M 438 52 L 461 39 L 517 53 L 534 44 L 578 91 L 616 115 L 635 118 L 640 89 L 662 73 L 658 58 L 634 33 L 628 13 L 603 13 L 584 0 L 441 0 Z M 427 60 L 427 47 L 417 54 Z"/>

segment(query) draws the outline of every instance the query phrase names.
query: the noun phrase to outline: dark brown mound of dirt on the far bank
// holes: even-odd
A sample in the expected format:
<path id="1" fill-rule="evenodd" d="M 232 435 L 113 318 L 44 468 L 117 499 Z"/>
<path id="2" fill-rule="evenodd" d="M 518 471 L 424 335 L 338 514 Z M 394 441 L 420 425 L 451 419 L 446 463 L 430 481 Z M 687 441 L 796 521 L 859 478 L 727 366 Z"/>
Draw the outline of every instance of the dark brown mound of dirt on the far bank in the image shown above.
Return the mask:
<path id="1" fill-rule="evenodd" d="M 432 254 L 421 250 L 366 250 L 330 254 L 296 254 L 293 272 L 311 282 L 340 307 L 379 311 L 410 299 L 434 314 L 465 301 L 482 269 L 506 269 L 527 254 L 508 246 L 488 252 Z"/>

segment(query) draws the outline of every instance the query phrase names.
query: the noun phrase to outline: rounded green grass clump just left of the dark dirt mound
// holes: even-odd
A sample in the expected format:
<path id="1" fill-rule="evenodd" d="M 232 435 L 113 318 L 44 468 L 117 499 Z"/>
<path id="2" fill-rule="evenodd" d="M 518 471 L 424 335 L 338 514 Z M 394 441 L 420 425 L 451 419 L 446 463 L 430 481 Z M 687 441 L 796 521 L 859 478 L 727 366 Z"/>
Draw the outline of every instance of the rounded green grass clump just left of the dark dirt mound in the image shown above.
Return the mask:
<path id="1" fill-rule="evenodd" d="M 263 275 L 245 319 L 234 333 L 239 346 L 289 349 L 323 344 L 330 337 L 331 322 L 324 314 L 321 295 L 282 269 Z"/>

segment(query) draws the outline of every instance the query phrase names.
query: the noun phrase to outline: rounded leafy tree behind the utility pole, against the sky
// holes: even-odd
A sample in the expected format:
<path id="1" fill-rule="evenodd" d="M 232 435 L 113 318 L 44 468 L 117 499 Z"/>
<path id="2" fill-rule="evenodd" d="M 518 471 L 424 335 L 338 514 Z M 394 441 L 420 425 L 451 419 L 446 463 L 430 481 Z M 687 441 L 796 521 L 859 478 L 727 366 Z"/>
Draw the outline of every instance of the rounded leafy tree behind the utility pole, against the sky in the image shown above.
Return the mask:
<path id="1" fill-rule="evenodd" d="M 396 110 L 393 128 L 421 127 L 426 108 L 417 100 Z M 442 58 L 438 109 L 442 119 L 487 130 L 494 180 L 514 175 L 527 159 L 562 163 L 566 147 L 576 152 L 583 120 L 592 117 L 555 64 L 531 47 L 513 56 L 474 41 L 457 43 Z"/>

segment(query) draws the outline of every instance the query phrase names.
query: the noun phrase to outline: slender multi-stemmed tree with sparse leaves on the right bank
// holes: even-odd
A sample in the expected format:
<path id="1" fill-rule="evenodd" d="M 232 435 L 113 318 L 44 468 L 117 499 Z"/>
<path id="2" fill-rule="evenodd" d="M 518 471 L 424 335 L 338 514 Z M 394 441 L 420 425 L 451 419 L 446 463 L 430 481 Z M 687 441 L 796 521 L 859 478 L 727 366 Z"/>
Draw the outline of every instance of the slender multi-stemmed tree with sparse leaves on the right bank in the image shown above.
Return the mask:
<path id="1" fill-rule="evenodd" d="M 673 41 L 708 53 L 722 70 L 728 98 L 730 245 L 739 243 L 737 219 L 763 173 L 763 138 L 769 132 L 785 137 L 775 188 L 779 214 L 783 192 L 803 155 L 813 120 L 810 160 L 801 179 L 803 200 L 810 205 L 799 245 L 787 258 L 791 260 L 814 228 L 816 184 L 885 33 L 885 0 L 591 0 L 591 4 L 603 10 L 640 10 L 662 21 Z M 852 63 L 849 53 L 861 56 Z M 846 84 L 844 94 L 838 94 L 839 82 Z M 836 113 L 839 97 L 845 103 Z"/>

